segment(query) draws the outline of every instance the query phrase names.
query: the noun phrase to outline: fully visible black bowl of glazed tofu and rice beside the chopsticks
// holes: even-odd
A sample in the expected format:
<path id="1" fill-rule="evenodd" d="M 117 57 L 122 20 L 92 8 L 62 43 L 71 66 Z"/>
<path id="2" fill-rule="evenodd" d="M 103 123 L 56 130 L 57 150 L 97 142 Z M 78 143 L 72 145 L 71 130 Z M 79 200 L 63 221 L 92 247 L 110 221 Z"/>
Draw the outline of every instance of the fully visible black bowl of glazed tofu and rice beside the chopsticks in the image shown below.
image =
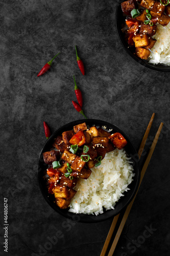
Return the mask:
<path id="1" fill-rule="evenodd" d="M 87 127 L 75 131 L 84 123 Z M 65 141 L 68 134 L 72 137 L 79 132 L 86 135 L 86 143 L 79 144 L 78 153 L 72 152 L 74 142 L 66 149 L 62 148 L 66 147 L 63 141 L 56 142 L 61 135 Z M 114 136 L 118 134 L 121 137 L 116 142 Z M 55 168 L 59 153 L 60 166 Z M 51 170 L 59 177 L 52 190 Z M 58 214 L 77 222 L 95 223 L 116 216 L 131 202 L 140 181 L 139 158 L 131 140 L 115 125 L 96 119 L 77 120 L 60 127 L 46 141 L 37 161 L 37 179 L 42 196 Z"/>

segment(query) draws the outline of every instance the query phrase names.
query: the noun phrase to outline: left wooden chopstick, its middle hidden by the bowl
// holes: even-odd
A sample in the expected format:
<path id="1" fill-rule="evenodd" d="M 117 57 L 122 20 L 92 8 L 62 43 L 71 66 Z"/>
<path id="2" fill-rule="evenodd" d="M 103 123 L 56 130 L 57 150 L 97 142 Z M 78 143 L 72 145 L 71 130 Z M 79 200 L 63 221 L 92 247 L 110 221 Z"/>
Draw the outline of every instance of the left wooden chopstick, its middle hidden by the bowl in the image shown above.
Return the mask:
<path id="1" fill-rule="evenodd" d="M 139 151 L 138 151 L 138 155 L 139 155 L 139 153 L 140 153 L 139 159 L 140 159 L 140 157 L 141 157 L 141 155 L 142 155 L 143 148 L 144 148 L 145 143 L 146 143 L 146 139 L 147 139 L 147 137 L 148 137 L 148 134 L 149 134 L 149 132 L 150 132 L 150 129 L 151 129 L 151 126 L 152 126 L 152 123 L 153 123 L 153 120 L 154 120 L 154 116 L 155 116 L 155 113 L 152 114 L 152 117 L 151 117 L 151 119 L 150 119 L 150 122 L 148 123 L 147 128 L 146 128 L 146 131 L 145 131 L 145 134 L 144 134 L 144 136 L 143 136 L 142 142 L 141 142 L 141 144 L 140 144 Z M 111 238 L 112 238 L 112 234 L 113 234 L 113 231 L 114 231 L 114 229 L 115 229 L 115 226 L 116 226 L 116 223 L 117 223 L 117 221 L 118 221 L 118 218 L 119 218 L 119 214 L 116 215 L 116 216 L 114 217 L 114 219 L 113 219 L 112 225 L 111 225 L 111 227 L 110 227 L 110 230 L 109 230 L 107 239 L 105 240 L 105 243 L 104 243 L 104 245 L 103 245 L 103 249 L 102 249 L 102 251 L 101 251 L 100 256 L 104 256 L 104 255 L 105 255 L 105 252 L 106 252 L 107 249 L 108 249 L 108 246 L 109 246 L 110 240 L 111 240 Z"/>

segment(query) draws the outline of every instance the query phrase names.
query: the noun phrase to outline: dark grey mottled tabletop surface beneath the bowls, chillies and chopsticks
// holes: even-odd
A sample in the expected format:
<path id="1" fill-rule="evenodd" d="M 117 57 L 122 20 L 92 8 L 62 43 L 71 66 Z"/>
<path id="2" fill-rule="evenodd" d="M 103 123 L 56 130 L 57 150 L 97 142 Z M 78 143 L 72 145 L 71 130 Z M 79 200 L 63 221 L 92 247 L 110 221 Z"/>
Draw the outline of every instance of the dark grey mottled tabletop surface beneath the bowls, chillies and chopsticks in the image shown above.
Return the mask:
<path id="1" fill-rule="evenodd" d="M 148 142 L 164 122 L 114 255 L 169 254 L 169 73 L 148 70 L 124 51 L 115 29 L 116 6 L 114 0 L 0 3 L 2 225 L 4 197 L 9 203 L 9 252 L 2 246 L 2 255 L 100 255 L 112 219 L 67 223 L 42 198 L 35 174 L 46 141 L 43 121 L 54 132 L 83 118 L 71 102 L 76 99 L 73 74 L 87 117 L 119 126 L 136 149 L 153 112 Z M 77 66 L 75 44 L 85 76 Z M 58 52 L 51 71 L 37 77 Z M 142 240 L 151 225 L 154 231 Z M 57 231 L 58 241 L 50 246 L 47 242 Z M 0 234 L 3 244 L 3 228 Z"/>

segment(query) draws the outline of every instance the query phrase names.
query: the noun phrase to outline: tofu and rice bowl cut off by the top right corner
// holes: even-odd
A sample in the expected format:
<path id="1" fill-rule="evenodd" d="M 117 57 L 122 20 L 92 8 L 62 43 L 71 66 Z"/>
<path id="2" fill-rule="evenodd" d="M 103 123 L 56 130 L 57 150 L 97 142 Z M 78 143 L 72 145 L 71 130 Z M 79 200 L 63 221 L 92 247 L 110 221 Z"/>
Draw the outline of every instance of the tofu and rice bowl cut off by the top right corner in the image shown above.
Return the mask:
<path id="1" fill-rule="evenodd" d="M 129 12 L 125 12 L 127 9 L 126 4 L 128 4 L 128 2 L 132 2 L 129 6 L 135 3 L 132 9 L 136 8 L 136 12 L 139 10 L 139 13 L 136 14 L 139 16 L 134 16 L 134 18 L 132 18 L 131 9 L 129 9 Z M 141 7 L 139 2 L 144 5 L 148 2 L 148 7 Z M 154 3 L 155 5 L 158 5 L 158 7 L 156 7 L 158 8 L 158 12 L 161 12 L 161 14 L 158 13 L 158 15 L 162 15 L 160 18 L 153 16 L 156 15 L 153 12 L 156 8 L 150 5 L 154 5 Z M 121 8 L 121 4 L 123 4 L 123 8 Z M 116 30 L 125 51 L 140 65 L 156 71 L 170 72 L 170 66 L 167 66 L 170 65 L 170 17 L 167 15 L 170 13 L 170 6 L 167 6 L 166 9 L 164 6 L 161 6 L 161 8 L 162 10 L 160 9 L 160 3 L 155 2 L 154 0 L 146 0 L 146 2 L 140 0 L 138 1 L 138 4 L 136 0 L 118 0 L 115 18 Z M 157 9 L 155 12 L 157 13 Z M 147 17 L 148 20 L 145 20 Z M 134 22 L 136 23 L 133 24 Z M 135 31 L 133 31 L 134 29 Z M 159 61 L 161 63 L 157 63 Z"/>

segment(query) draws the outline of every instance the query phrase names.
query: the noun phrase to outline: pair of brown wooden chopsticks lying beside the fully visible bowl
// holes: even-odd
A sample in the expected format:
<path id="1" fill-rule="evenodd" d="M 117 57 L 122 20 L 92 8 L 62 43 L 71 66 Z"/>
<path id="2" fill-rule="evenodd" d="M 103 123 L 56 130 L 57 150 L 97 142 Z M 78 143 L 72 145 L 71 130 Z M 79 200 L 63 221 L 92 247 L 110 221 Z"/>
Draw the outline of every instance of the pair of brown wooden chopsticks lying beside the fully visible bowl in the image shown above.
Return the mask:
<path id="1" fill-rule="evenodd" d="M 139 151 L 138 151 L 139 159 L 140 159 L 140 157 L 141 157 L 141 155 L 142 155 L 142 152 L 143 152 L 143 149 L 144 149 L 144 146 L 145 146 L 145 143 L 146 143 L 146 139 L 147 139 L 148 134 L 149 134 L 149 132 L 150 132 L 150 129 L 151 129 L 151 126 L 152 126 L 154 117 L 155 117 L 155 113 L 153 113 L 153 115 L 152 115 L 152 117 L 151 117 L 151 120 L 150 120 L 150 122 L 148 123 L 147 129 L 146 129 L 146 131 L 145 131 L 145 134 L 144 134 L 144 136 L 143 136 L 142 142 L 141 142 L 141 144 L 140 144 Z M 156 144 L 157 144 L 159 135 L 160 135 L 160 133 L 161 133 L 162 126 L 163 126 L 163 123 L 161 122 L 161 123 L 160 123 L 160 126 L 159 126 L 159 128 L 158 128 L 158 131 L 157 131 L 157 133 L 156 133 L 156 135 L 155 135 L 155 138 L 154 138 L 154 140 L 153 140 L 153 143 L 152 143 L 152 145 L 151 145 L 150 151 L 148 152 L 146 161 L 145 161 L 145 163 L 144 163 L 144 165 L 143 165 L 143 168 L 142 168 L 142 170 L 141 170 L 141 177 L 140 177 L 139 187 L 140 187 L 140 184 L 141 184 L 142 179 L 143 179 L 143 177 L 144 177 L 144 174 L 145 174 L 145 172 L 146 172 L 147 166 L 148 166 L 148 164 L 150 163 L 152 154 L 153 154 L 153 152 L 154 152 L 154 150 L 155 150 L 155 146 L 156 146 Z M 138 189 L 139 189 L 139 187 L 138 187 Z M 135 194 L 133 200 L 131 201 L 131 203 L 128 205 L 128 207 L 126 208 L 126 210 L 125 210 L 125 212 L 124 212 L 123 218 L 122 218 L 122 220 L 121 220 L 121 222 L 120 222 L 119 228 L 118 228 L 118 230 L 117 230 L 115 239 L 114 239 L 114 241 L 113 241 L 113 244 L 112 244 L 112 247 L 111 247 L 111 249 L 110 249 L 110 251 L 109 251 L 108 256 L 112 256 L 113 253 L 114 253 L 114 251 L 115 251 L 116 245 L 117 245 L 118 240 L 119 240 L 119 238 L 120 238 L 120 235 L 121 235 L 121 232 L 122 232 L 123 227 L 124 227 L 124 225 L 125 225 L 125 222 L 126 222 L 126 220 L 128 219 L 130 210 L 131 210 L 132 205 L 133 205 L 133 203 L 134 203 L 134 201 L 135 201 L 135 197 L 136 197 L 137 193 L 138 193 L 138 190 L 137 190 L 137 192 L 136 192 L 136 194 Z M 105 255 L 105 252 L 106 252 L 107 249 L 108 249 L 108 246 L 109 246 L 110 240 L 111 240 L 111 238 L 112 238 L 112 234 L 113 234 L 113 231 L 114 231 L 114 229 L 115 229 L 116 223 L 117 223 L 117 221 L 118 221 L 119 215 L 120 215 L 120 214 L 116 215 L 116 216 L 114 217 L 114 219 L 113 219 L 111 228 L 110 228 L 110 230 L 109 230 L 107 239 L 105 240 L 105 243 L 104 243 L 104 246 L 103 246 L 103 249 L 102 249 L 102 251 L 101 251 L 100 256 L 104 256 L 104 255 Z"/>

